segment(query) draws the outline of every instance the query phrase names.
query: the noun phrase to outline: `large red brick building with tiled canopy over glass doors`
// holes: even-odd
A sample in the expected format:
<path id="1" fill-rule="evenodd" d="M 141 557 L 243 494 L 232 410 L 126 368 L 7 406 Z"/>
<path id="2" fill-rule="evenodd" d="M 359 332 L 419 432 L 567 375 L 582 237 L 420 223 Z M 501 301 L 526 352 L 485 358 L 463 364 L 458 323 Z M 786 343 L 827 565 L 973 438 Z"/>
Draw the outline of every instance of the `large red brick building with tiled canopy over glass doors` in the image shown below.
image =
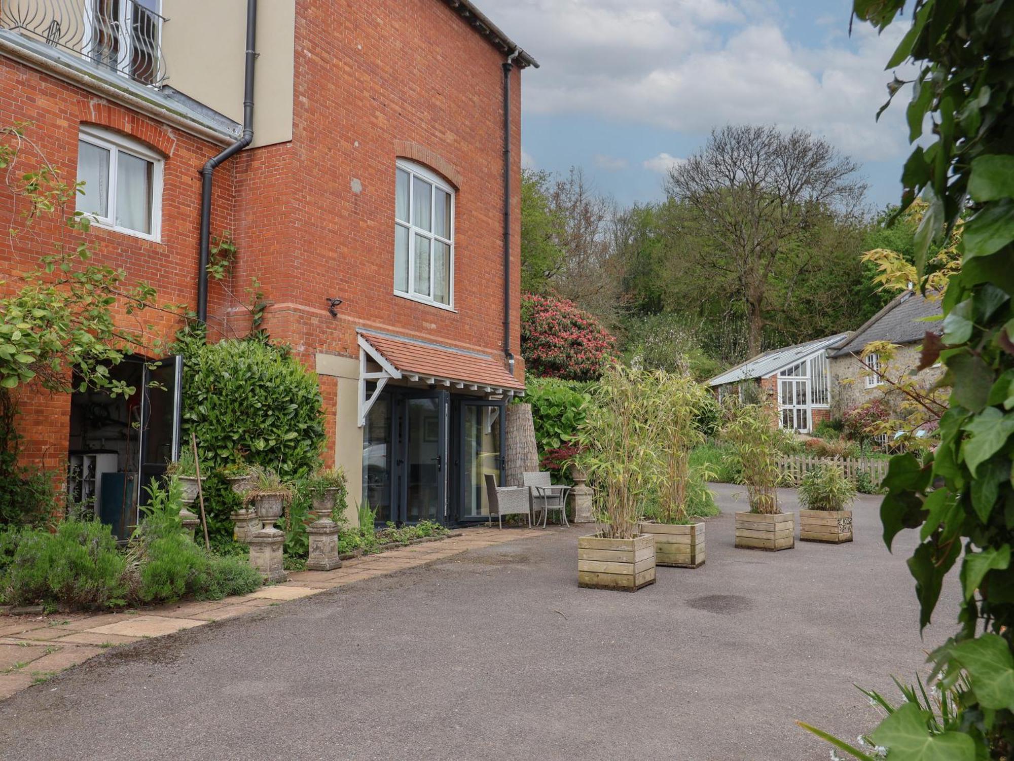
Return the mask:
<path id="1" fill-rule="evenodd" d="M 329 461 L 381 520 L 479 518 L 483 476 L 502 471 L 503 405 L 523 390 L 529 66 L 467 0 L 0 0 L 0 124 L 33 123 L 46 158 L 86 182 L 98 261 L 206 315 L 212 339 L 246 332 L 256 279 L 264 327 L 319 375 Z M 208 236 L 229 232 L 237 255 L 203 304 L 202 167 L 249 132 L 206 169 Z M 4 287 L 44 253 L 4 236 Z M 157 332 L 176 327 L 157 316 Z M 136 500 L 145 469 L 178 449 L 171 393 L 19 404 L 22 459 L 69 459 L 72 488 L 99 501 L 102 481 L 106 499 Z M 132 439 L 145 415 L 168 422 Z"/>

